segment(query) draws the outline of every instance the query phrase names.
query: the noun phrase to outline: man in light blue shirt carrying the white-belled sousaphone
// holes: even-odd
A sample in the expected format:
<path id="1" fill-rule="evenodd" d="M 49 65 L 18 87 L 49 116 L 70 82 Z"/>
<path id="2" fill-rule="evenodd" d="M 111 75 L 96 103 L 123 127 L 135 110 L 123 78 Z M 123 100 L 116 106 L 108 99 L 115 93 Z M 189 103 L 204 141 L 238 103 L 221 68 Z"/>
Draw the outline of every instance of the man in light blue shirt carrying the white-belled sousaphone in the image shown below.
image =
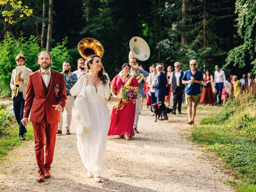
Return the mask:
<path id="1" fill-rule="evenodd" d="M 135 74 L 136 72 L 140 72 L 144 75 L 144 77 L 149 76 L 149 73 L 144 71 L 143 69 L 141 69 L 139 66 L 136 66 L 136 63 L 137 63 L 136 58 L 130 58 L 130 60 L 129 60 L 129 64 L 131 66 L 130 73 Z M 143 97 L 143 96 L 145 96 L 145 93 L 144 93 L 142 81 L 139 82 L 139 85 L 140 85 L 140 90 L 139 90 L 140 97 Z M 137 124 L 138 124 L 139 115 L 140 115 L 140 102 L 141 102 L 140 97 L 136 100 L 136 111 L 135 111 L 135 119 L 134 119 L 134 125 L 133 125 L 134 133 L 139 133 L 137 130 L 137 127 L 138 127 Z"/>

